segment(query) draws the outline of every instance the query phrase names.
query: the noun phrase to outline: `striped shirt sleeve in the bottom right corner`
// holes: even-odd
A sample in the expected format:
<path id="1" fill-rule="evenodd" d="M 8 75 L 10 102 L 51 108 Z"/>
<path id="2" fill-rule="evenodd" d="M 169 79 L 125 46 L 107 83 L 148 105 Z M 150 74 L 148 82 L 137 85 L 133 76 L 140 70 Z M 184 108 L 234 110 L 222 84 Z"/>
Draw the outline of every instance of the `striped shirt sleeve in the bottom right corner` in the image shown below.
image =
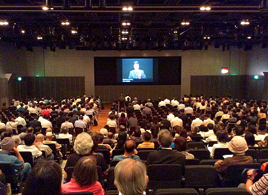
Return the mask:
<path id="1" fill-rule="evenodd" d="M 268 174 L 264 174 L 257 182 L 249 187 L 252 195 L 266 195 L 268 192 Z"/>

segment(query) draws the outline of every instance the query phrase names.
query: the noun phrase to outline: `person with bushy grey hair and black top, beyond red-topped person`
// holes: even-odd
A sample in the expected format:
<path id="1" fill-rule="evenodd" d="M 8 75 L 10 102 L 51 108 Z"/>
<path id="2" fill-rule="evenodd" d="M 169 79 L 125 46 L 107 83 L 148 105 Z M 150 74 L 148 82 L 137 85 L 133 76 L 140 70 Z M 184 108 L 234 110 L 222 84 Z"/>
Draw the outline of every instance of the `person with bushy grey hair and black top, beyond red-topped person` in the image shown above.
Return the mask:
<path id="1" fill-rule="evenodd" d="M 97 140 L 96 140 L 97 141 Z M 103 172 L 104 175 L 107 175 L 108 173 L 108 165 L 106 164 L 103 156 L 94 153 L 94 151 L 92 151 L 94 146 L 94 142 L 92 137 L 83 132 L 81 134 L 78 134 L 75 140 L 75 144 L 74 144 L 74 150 L 75 153 L 71 154 L 66 162 L 66 165 L 64 167 L 64 171 L 66 172 L 68 167 L 74 167 L 77 164 L 77 161 L 83 157 L 83 156 L 93 156 L 96 159 L 97 162 L 97 166 L 101 167 L 101 170 Z M 96 146 L 94 146 L 95 148 L 97 148 L 97 142 L 96 142 Z M 67 176 L 65 176 L 66 178 Z"/>

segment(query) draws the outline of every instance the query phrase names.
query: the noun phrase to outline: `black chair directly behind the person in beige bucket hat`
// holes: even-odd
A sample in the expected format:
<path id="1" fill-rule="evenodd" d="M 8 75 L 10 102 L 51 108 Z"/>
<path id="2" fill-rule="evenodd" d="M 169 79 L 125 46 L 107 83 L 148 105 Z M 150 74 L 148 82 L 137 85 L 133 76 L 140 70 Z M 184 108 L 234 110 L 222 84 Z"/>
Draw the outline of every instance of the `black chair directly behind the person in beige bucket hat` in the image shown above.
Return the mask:
<path id="1" fill-rule="evenodd" d="M 244 169 L 261 169 L 261 164 L 230 164 L 227 167 L 225 176 L 222 178 L 224 187 L 237 187 L 240 183 L 245 183 L 245 178 L 241 176 Z"/>

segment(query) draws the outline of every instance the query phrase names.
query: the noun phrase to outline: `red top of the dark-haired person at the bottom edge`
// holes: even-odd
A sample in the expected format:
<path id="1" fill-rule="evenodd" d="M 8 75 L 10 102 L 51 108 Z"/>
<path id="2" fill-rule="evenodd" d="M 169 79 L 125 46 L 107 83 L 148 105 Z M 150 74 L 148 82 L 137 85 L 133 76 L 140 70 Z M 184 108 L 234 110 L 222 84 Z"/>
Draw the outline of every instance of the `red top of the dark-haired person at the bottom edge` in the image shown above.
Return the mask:
<path id="1" fill-rule="evenodd" d="M 71 192 L 93 192 L 94 195 L 104 195 L 104 190 L 101 184 L 96 181 L 91 185 L 79 186 L 76 183 L 76 179 L 71 178 L 71 181 L 61 185 L 62 193 L 71 193 Z"/>

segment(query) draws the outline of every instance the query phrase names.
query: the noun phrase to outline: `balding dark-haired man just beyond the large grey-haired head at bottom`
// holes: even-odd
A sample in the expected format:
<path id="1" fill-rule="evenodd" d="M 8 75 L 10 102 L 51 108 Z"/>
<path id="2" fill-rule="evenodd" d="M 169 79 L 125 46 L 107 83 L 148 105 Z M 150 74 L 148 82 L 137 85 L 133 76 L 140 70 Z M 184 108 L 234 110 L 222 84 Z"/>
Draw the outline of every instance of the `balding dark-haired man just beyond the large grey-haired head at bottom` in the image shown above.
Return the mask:
<path id="1" fill-rule="evenodd" d="M 124 144 L 125 153 L 123 155 L 114 156 L 113 160 L 123 160 L 125 158 L 133 158 L 134 160 L 140 160 L 135 150 L 135 142 L 133 140 L 127 140 Z"/>

